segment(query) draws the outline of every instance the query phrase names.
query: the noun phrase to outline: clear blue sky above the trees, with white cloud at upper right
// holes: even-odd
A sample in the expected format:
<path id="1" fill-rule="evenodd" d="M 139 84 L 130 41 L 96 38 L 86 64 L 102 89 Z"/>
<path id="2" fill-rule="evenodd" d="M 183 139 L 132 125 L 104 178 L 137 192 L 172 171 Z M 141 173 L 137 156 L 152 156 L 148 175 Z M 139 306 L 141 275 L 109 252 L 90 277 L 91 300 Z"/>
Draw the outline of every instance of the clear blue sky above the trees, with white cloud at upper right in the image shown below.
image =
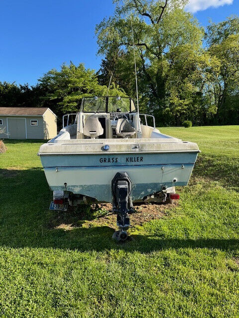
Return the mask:
<path id="1" fill-rule="evenodd" d="M 202 25 L 239 14 L 239 0 L 190 1 Z M 70 60 L 98 70 L 95 25 L 113 11 L 112 0 L 0 0 L 0 81 L 35 84 Z"/>

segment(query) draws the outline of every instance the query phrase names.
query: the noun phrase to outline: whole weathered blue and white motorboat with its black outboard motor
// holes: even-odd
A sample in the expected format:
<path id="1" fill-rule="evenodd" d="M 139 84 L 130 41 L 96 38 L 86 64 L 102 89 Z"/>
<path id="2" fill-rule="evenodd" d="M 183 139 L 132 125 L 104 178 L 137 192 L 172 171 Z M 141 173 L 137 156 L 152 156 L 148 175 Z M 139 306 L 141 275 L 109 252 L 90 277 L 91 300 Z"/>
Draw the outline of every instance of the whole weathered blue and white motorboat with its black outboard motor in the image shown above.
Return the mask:
<path id="1" fill-rule="evenodd" d="M 83 98 L 80 111 L 64 115 L 59 134 L 39 150 L 54 191 L 50 208 L 110 202 L 118 240 L 127 238 L 133 203 L 178 199 L 175 186 L 188 184 L 198 153 L 197 144 L 161 134 L 152 115 L 119 96 Z"/>

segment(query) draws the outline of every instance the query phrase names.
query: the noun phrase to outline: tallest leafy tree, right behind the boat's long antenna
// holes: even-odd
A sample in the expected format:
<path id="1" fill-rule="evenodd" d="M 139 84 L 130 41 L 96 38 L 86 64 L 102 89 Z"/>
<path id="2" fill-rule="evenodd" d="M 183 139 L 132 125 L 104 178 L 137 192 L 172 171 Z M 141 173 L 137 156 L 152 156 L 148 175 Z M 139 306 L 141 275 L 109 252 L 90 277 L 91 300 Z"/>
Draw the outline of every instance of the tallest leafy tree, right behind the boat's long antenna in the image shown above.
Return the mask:
<path id="1" fill-rule="evenodd" d="M 128 59 L 132 59 L 132 19 L 142 102 L 161 118 L 161 122 L 166 116 L 165 109 L 182 122 L 187 119 L 181 118 L 187 105 L 201 88 L 197 86 L 201 79 L 198 70 L 205 67 L 207 60 L 203 58 L 203 29 L 184 11 L 187 1 L 114 2 L 114 16 L 96 27 L 98 53 L 108 57 L 117 46 L 124 51 L 124 61 L 128 65 Z M 184 63 L 180 63 L 181 58 Z M 133 65 L 130 71 L 129 81 L 133 78 Z"/>

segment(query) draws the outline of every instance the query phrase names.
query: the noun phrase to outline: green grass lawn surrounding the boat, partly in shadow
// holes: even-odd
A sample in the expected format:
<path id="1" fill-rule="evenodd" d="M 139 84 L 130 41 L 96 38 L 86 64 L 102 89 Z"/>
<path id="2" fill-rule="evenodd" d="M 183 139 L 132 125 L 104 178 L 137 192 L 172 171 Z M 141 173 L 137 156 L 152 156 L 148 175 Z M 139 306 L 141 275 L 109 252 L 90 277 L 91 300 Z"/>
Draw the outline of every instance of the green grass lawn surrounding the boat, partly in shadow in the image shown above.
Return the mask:
<path id="1" fill-rule="evenodd" d="M 239 126 L 162 128 L 198 143 L 190 186 L 117 244 L 107 225 L 51 228 L 41 142 L 0 155 L 0 318 L 239 317 Z"/>

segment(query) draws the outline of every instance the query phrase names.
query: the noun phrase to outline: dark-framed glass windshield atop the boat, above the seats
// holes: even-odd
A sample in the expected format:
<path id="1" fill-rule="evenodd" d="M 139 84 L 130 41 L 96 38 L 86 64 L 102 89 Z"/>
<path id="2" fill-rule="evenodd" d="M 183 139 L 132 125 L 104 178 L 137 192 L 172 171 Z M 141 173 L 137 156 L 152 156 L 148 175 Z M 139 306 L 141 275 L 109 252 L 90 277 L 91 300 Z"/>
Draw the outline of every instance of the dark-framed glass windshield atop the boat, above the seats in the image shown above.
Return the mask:
<path id="1" fill-rule="evenodd" d="M 129 97 L 86 97 L 82 100 L 81 112 L 111 113 L 135 112 L 134 102 Z"/>

